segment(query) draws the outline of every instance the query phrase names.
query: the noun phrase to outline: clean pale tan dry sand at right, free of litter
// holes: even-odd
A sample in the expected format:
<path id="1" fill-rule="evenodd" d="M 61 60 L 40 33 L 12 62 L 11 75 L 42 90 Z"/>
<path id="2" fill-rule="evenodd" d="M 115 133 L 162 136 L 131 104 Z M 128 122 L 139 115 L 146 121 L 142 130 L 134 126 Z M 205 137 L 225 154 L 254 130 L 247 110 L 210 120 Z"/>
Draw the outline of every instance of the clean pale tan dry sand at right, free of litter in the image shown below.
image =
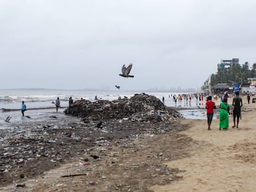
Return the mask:
<path id="1" fill-rule="evenodd" d="M 184 120 L 182 123 L 191 126 L 183 131 L 185 135 L 210 145 L 192 150 L 190 157 L 166 163 L 186 171 L 179 173 L 182 180 L 150 189 L 155 192 L 256 191 L 256 104 L 245 102 L 244 97 L 239 128 L 220 131 L 219 121 L 213 120 L 212 130 L 208 131 L 205 120 Z M 233 117 L 230 117 L 229 127 L 232 125 Z"/>

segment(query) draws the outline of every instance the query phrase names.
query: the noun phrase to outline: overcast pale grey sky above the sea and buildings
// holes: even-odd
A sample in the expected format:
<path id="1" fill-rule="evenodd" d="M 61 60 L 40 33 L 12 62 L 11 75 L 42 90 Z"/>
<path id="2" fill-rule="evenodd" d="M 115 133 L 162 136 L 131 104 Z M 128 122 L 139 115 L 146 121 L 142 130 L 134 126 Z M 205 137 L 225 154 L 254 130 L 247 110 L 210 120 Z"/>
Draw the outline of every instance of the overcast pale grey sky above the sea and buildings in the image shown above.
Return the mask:
<path id="1" fill-rule="evenodd" d="M 256 62 L 255 0 L 0 0 L 0 88 L 199 88 Z M 133 63 L 130 75 L 119 76 Z"/>

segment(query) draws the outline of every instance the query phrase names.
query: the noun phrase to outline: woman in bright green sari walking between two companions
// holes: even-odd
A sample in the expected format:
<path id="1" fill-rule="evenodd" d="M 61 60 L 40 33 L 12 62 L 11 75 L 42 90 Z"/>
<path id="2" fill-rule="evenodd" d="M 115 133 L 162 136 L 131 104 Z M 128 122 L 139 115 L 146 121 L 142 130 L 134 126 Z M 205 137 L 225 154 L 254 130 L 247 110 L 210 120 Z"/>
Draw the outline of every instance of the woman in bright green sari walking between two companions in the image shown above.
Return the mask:
<path id="1" fill-rule="evenodd" d="M 220 104 L 220 130 L 229 127 L 229 104 L 228 99 L 224 98 Z"/>

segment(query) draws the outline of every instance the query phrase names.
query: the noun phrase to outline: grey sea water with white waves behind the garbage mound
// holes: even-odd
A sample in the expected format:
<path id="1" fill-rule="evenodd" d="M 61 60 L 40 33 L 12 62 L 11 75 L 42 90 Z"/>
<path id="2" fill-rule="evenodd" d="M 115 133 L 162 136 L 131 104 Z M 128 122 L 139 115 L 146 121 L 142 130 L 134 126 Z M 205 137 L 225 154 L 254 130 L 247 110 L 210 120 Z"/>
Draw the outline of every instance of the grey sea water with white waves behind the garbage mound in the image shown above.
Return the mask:
<path id="1" fill-rule="evenodd" d="M 143 92 L 143 91 L 85 91 L 85 90 L 45 90 L 45 89 L 17 89 L 17 90 L 0 90 L 0 109 L 12 109 L 11 111 L 2 111 L 0 110 L 0 128 L 9 128 L 11 123 L 7 123 L 4 120 L 6 117 L 11 116 L 10 122 L 19 122 L 20 120 L 25 120 L 22 118 L 21 114 L 21 104 L 22 101 L 25 101 L 27 106 L 27 111 L 25 115 L 31 117 L 30 120 L 44 119 L 50 115 L 56 114 L 56 109 L 54 109 L 54 102 L 59 97 L 61 101 L 61 109 L 58 113 L 63 113 L 66 107 L 69 106 L 69 98 L 79 100 L 81 98 L 95 101 L 95 96 L 98 99 L 104 99 L 113 101 L 119 97 L 130 98 L 134 94 L 146 93 L 162 101 L 164 97 L 164 104 L 168 107 L 181 107 L 188 108 L 187 110 L 179 111 L 185 118 L 188 119 L 206 119 L 205 111 L 202 109 L 196 109 L 198 101 L 195 98 L 192 99 L 191 104 L 184 99 L 177 103 L 173 100 L 173 95 L 182 94 L 182 93 L 166 93 L 166 92 Z M 205 101 L 204 101 L 205 102 Z M 49 109 L 52 107 L 51 109 Z M 48 109 L 34 109 L 32 108 L 48 108 Z M 30 110 L 31 109 L 31 110 Z"/>

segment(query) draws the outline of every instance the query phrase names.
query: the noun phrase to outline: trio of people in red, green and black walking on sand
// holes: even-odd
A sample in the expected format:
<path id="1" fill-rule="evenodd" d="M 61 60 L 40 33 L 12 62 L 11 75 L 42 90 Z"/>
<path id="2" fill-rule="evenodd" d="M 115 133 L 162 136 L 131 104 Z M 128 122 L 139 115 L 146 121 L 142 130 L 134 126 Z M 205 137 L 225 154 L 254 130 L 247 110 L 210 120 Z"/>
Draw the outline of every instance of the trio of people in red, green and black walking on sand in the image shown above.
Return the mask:
<path id="1" fill-rule="evenodd" d="M 205 108 L 207 109 L 207 123 L 208 130 L 211 130 L 211 121 L 213 119 L 214 109 L 216 109 L 215 102 L 211 100 L 211 96 L 208 96 Z M 239 92 L 236 92 L 236 96 L 233 98 L 233 128 L 238 128 L 239 119 L 241 117 L 242 98 L 239 97 Z M 229 115 L 231 114 L 230 105 L 228 104 L 228 94 L 224 94 L 220 104 L 220 127 L 219 130 L 227 130 L 229 128 Z"/>

